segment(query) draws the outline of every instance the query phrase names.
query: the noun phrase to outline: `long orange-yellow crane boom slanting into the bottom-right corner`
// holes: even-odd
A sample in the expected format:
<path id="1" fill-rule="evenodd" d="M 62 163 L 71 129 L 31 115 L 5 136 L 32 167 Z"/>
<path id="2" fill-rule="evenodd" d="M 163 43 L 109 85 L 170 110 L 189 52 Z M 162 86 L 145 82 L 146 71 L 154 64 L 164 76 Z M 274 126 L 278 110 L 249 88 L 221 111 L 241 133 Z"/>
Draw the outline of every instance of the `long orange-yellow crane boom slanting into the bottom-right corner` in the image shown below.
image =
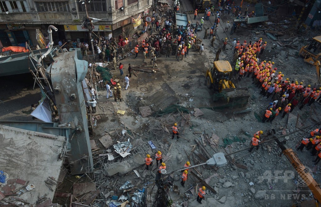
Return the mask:
<path id="1" fill-rule="evenodd" d="M 300 177 L 307 184 L 308 188 L 312 191 L 314 197 L 319 203 L 321 203 L 321 188 L 320 184 L 312 177 L 308 172 L 308 169 L 301 163 L 297 155 L 293 150 L 285 144 L 285 141 L 281 142 L 279 139 L 275 140 L 276 143 L 282 150 L 282 153 L 288 158 L 291 162 L 294 169 L 299 173 Z"/>

